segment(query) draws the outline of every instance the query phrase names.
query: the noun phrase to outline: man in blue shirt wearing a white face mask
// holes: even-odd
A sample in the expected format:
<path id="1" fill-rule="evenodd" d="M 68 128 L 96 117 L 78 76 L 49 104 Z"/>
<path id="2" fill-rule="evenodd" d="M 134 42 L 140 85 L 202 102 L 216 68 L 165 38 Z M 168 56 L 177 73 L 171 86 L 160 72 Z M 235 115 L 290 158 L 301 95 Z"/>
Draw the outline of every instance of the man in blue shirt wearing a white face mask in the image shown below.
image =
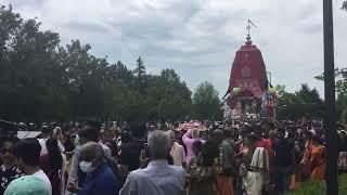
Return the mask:
<path id="1" fill-rule="evenodd" d="M 87 173 L 83 187 L 79 187 L 76 182 L 67 184 L 69 192 L 79 195 L 118 195 L 118 186 L 115 176 L 110 169 L 104 152 L 100 144 L 95 142 L 86 143 L 80 151 L 80 169 Z"/>

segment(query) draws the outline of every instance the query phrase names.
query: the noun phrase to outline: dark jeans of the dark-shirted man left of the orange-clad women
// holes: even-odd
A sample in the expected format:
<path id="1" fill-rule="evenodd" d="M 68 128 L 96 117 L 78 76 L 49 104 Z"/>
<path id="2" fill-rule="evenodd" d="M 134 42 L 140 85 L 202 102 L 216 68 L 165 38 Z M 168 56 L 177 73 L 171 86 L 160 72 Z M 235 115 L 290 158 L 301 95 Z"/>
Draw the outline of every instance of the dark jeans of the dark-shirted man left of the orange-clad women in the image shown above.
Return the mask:
<path id="1" fill-rule="evenodd" d="M 288 192 L 290 176 L 291 176 L 291 167 L 274 168 L 274 185 L 275 185 L 275 188 L 281 194 Z"/>

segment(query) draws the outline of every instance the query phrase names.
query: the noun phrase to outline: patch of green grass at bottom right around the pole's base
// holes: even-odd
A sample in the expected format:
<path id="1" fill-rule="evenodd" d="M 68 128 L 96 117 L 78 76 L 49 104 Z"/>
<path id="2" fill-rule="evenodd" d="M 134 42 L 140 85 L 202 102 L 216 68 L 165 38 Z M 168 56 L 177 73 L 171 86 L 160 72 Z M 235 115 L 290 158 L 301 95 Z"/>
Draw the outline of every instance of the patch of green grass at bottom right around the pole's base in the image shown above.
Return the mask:
<path id="1" fill-rule="evenodd" d="M 339 195 L 347 195 L 347 174 L 339 176 Z M 290 195 L 325 195 L 325 183 L 309 181 L 301 184 L 297 191 L 291 192 Z"/>

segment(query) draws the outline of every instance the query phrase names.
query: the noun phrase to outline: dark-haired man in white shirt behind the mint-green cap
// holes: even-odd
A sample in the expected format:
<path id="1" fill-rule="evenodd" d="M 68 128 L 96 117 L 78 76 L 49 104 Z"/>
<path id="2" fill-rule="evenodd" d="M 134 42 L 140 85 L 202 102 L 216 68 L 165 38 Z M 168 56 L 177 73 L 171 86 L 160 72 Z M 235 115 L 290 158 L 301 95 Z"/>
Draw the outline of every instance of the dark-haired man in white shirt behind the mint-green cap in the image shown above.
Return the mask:
<path id="1" fill-rule="evenodd" d="M 34 176 L 42 180 L 50 194 L 52 185 L 47 174 L 39 167 L 41 145 L 36 139 L 21 140 L 14 147 L 14 155 L 17 158 L 18 168 L 27 176 Z"/>

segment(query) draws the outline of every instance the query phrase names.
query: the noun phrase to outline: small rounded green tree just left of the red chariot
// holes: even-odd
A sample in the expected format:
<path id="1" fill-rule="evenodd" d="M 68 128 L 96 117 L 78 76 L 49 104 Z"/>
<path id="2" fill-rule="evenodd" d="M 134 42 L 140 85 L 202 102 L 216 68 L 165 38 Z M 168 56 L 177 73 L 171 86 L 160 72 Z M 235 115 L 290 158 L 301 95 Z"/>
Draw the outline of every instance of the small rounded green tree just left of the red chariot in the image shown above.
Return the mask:
<path id="1" fill-rule="evenodd" d="M 221 119 L 221 102 L 213 83 L 205 81 L 197 86 L 193 94 L 194 117 L 197 119 Z"/>

